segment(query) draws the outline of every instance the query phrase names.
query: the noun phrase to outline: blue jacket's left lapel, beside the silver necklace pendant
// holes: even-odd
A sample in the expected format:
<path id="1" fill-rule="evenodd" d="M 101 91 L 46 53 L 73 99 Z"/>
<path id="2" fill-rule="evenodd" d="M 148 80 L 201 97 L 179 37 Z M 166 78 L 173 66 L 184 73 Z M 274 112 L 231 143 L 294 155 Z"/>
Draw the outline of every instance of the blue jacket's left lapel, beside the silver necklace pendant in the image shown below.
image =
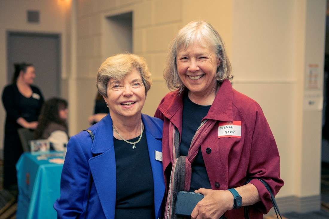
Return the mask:
<path id="1" fill-rule="evenodd" d="M 112 119 L 108 114 L 99 122 L 91 152 L 98 154 L 89 159 L 89 167 L 97 194 L 107 219 L 114 218 L 116 197 L 116 172 Z"/>

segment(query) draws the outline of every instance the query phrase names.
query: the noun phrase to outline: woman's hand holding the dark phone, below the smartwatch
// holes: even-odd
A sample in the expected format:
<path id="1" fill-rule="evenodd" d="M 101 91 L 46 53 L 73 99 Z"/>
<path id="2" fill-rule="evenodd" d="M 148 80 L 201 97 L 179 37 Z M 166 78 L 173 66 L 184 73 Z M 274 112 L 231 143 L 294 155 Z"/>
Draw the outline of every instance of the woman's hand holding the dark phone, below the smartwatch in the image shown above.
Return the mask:
<path id="1" fill-rule="evenodd" d="M 218 219 L 226 211 L 233 209 L 233 195 L 228 190 L 200 188 L 194 192 L 201 193 L 205 197 L 193 209 L 192 219 Z"/>

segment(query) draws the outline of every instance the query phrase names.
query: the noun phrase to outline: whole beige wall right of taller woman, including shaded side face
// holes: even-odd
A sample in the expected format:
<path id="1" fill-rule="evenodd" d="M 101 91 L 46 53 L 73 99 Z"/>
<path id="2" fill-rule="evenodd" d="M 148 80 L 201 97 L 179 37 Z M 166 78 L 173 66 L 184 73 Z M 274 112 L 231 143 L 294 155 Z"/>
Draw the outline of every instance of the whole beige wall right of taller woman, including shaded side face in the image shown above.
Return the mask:
<path id="1" fill-rule="evenodd" d="M 234 87 L 263 108 L 281 157 L 277 197 L 320 194 L 321 109 L 304 106 L 308 64 L 323 95 L 326 1 L 234 1 Z"/>

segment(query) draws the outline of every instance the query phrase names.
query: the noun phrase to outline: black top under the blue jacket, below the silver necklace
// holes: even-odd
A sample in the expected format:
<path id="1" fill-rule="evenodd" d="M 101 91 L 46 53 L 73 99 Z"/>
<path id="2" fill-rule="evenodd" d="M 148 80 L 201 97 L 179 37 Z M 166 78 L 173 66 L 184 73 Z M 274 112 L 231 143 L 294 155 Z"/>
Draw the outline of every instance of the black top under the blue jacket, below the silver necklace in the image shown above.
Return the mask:
<path id="1" fill-rule="evenodd" d="M 128 141 L 134 142 L 139 136 Z M 116 202 L 114 218 L 154 218 L 154 185 L 145 130 L 132 148 L 114 138 Z"/>

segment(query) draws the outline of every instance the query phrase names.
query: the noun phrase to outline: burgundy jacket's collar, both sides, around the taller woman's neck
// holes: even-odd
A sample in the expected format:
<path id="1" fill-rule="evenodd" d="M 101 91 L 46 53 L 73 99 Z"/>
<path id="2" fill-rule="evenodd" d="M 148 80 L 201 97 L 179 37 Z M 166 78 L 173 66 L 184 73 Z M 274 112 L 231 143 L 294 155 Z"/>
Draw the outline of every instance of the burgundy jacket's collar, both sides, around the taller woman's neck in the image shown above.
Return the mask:
<path id="1" fill-rule="evenodd" d="M 176 113 L 183 112 L 182 107 L 183 95 L 174 91 L 159 105 L 159 110 L 171 121 Z M 228 79 L 225 79 L 217 90 L 215 100 L 205 119 L 233 121 L 233 88 Z"/>

